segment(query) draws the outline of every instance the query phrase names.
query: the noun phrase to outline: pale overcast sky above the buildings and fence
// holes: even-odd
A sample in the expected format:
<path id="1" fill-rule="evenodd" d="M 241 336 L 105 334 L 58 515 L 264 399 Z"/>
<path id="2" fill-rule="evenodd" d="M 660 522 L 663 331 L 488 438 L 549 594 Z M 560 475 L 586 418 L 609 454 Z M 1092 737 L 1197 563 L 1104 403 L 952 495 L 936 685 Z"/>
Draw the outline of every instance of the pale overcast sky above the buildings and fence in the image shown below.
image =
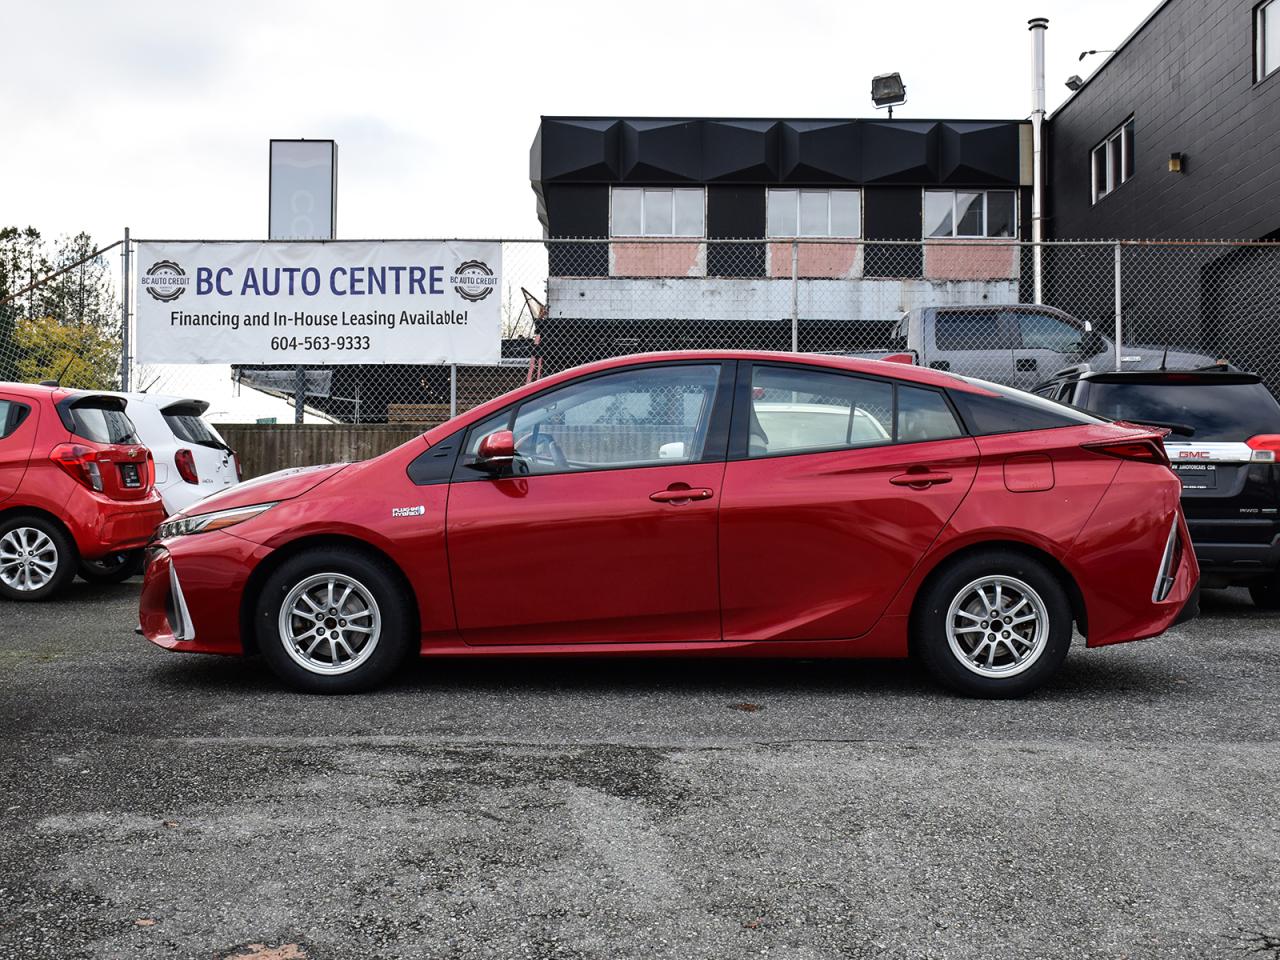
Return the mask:
<path id="1" fill-rule="evenodd" d="M 1029 17 L 1052 109 L 1155 3 L 5 0 L 0 225 L 265 237 L 268 140 L 332 137 L 339 237 L 535 237 L 541 114 L 1021 118 Z"/>

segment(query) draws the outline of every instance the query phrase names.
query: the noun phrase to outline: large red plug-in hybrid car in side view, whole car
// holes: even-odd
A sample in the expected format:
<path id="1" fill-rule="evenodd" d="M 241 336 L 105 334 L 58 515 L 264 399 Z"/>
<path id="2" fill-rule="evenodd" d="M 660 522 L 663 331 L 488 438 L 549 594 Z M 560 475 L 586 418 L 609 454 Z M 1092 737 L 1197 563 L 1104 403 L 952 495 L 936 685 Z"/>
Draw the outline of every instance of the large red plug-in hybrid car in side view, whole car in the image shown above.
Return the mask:
<path id="1" fill-rule="evenodd" d="M 406 655 L 905 657 L 1011 696 L 1196 612 L 1161 434 L 933 370 L 689 352 L 165 522 L 141 632 L 340 692 Z"/>

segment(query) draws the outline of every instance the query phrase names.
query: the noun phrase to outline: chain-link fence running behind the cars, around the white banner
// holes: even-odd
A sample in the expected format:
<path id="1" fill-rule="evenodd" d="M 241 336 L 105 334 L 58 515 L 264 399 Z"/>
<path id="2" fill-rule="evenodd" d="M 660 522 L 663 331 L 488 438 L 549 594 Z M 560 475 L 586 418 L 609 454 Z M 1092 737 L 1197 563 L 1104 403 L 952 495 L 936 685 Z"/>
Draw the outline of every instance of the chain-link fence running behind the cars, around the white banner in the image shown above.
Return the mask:
<path id="1" fill-rule="evenodd" d="M 305 371 L 308 420 L 430 422 L 531 379 L 649 351 L 913 351 L 1024 389 L 1057 371 L 1228 361 L 1280 392 L 1280 244 L 1231 242 L 503 241 L 502 362 Z M 101 270 L 101 275 L 106 275 Z M 0 289 L 0 378 L 120 380 L 120 330 L 87 337 L 68 274 Z M 58 296 L 52 296 L 55 284 Z M 118 289 L 113 292 L 118 297 Z M 119 316 L 118 300 L 113 300 Z M 110 310 L 99 310 L 105 317 Z M 90 333 L 93 333 L 92 330 Z M 220 422 L 293 419 L 297 369 L 131 362 L 132 389 Z M 61 367 L 65 366 L 65 370 Z"/>

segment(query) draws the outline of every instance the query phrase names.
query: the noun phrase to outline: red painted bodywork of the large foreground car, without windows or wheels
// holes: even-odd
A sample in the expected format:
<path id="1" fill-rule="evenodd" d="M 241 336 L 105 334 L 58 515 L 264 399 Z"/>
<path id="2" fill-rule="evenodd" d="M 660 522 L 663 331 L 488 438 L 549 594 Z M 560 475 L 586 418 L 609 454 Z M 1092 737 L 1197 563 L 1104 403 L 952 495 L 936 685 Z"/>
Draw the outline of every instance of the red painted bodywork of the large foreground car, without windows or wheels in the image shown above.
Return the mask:
<path id="1" fill-rule="evenodd" d="M 229 531 L 163 541 L 143 585 L 142 632 L 169 649 L 243 652 L 255 570 L 312 538 L 385 554 L 413 591 L 421 652 L 431 655 L 902 657 L 928 576 L 993 541 L 1038 550 L 1066 571 L 1091 646 L 1164 631 L 1197 584 L 1194 554 L 1184 549 L 1167 598 L 1151 599 L 1175 518 L 1189 544 L 1179 481 L 1158 463 L 1082 447 L 1124 438 L 1114 425 L 428 485 L 407 476 L 431 444 L 525 397 L 628 364 L 701 358 L 803 362 L 984 392 L 943 372 L 846 357 L 600 361 L 495 398 L 375 460 L 251 481 L 201 502 L 198 512 L 280 500 Z M 950 479 L 910 485 L 916 471 Z M 710 494 L 650 499 L 678 485 Z M 175 640 L 168 621 L 170 564 L 195 622 L 191 639 Z"/>

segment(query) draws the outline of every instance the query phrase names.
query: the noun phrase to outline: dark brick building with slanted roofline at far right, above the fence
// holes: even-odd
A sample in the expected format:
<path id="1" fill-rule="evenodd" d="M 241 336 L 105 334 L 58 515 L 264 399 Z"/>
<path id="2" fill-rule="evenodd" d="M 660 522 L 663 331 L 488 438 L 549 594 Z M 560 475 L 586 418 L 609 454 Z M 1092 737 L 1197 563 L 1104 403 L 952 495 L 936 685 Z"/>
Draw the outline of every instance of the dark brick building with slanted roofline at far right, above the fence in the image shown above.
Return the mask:
<path id="1" fill-rule="evenodd" d="M 1280 50 L 1261 42 L 1268 18 L 1280 37 L 1276 3 L 1160 4 L 1050 116 L 1046 236 L 1280 239 Z"/>

